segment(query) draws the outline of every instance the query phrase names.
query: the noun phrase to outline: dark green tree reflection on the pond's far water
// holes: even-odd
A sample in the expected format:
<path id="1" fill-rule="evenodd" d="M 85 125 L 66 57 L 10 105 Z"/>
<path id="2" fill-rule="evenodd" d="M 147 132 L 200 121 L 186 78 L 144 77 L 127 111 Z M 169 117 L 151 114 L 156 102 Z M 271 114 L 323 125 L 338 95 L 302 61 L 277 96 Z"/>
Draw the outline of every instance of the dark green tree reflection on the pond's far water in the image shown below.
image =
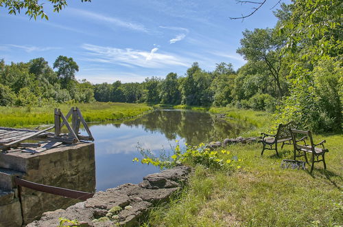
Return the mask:
<path id="1" fill-rule="evenodd" d="M 180 136 L 188 144 L 235 137 L 242 129 L 242 125 L 237 122 L 227 122 L 195 111 L 158 110 L 124 124 L 130 127 L 143 125 L 145 131 L 158 131 L 165 134 L 168 140 Z"/>

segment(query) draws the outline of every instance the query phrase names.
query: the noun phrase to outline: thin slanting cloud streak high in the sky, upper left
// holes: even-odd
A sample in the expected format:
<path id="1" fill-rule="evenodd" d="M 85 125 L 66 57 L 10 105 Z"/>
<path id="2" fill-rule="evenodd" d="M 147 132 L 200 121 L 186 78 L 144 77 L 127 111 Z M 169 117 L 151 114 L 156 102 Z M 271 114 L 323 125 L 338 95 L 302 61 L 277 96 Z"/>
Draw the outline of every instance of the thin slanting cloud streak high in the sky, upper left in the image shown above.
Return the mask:
<path id="1" fill-rule="evenodd" d="M 109 25 L 115 25 L 117 27 L 127 28 L 130 30 L 136 30 L 139 32 L 148 32 L 147 28 L 145 28 L 144 25 L 141 25 L 139 23 L 132 23 L 132 22 L 124 21 L 116 17 L 108 17 L 108 16 L 104 16 L 103 14 L 97 14 L 95 12 L 79 10 L 76 8 L 71 8 L 71 10 L 73 14 L 77 14 L 78 16 L 86 17 L 88 19 L 101 21 L 103 23 L 108 23 Z"/>

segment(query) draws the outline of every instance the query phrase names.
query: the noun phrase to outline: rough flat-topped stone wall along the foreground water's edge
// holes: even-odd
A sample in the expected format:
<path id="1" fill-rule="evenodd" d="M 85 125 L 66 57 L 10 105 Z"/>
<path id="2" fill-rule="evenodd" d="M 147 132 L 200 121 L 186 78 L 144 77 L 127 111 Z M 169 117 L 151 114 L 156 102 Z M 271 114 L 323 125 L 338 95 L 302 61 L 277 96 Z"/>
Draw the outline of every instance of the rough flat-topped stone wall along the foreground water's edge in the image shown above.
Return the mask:
<path id="1" fill-rule="evenodd" d="M 187 166 L 176 166 L 147 175 L 139 184 L 123 184 L 99 191 L 86 202 L 44 213 L 39 221 L 27 226 L 58 226 L 60 217 L 76 219 L 78 226 L 137 226 L 150 208 L 167 202 L 186 184 L 190 170 Z"/>

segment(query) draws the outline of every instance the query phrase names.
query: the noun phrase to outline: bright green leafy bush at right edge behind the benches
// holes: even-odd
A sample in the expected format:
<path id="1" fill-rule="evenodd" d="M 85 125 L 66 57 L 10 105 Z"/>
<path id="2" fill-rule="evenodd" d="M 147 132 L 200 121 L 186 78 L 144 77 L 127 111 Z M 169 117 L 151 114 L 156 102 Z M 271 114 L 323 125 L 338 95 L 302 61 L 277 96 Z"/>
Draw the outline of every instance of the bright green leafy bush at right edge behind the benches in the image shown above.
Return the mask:
<path id="1" fill-rule="evenodd" d="M 295 73 L 295 72 L 294 72 Z M 316 132 L 342 131 L 342 67 L 322 61 L 313 71 L 296 74 L 292 94 L 277 111 L 278 122 L 295 120 L 304 129 Z"/>

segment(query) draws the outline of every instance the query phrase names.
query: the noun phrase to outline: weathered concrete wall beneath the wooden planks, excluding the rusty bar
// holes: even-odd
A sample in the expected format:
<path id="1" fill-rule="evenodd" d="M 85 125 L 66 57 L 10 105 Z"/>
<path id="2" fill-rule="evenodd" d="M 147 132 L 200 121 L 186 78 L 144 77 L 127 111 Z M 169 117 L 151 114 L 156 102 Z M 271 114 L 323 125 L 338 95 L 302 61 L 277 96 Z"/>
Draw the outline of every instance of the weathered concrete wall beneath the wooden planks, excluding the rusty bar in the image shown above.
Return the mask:
<path id="1" fill-rule="evenodd" d="M 94 152 L 93 143 L 80 143 L 65 145 L 34 155 L 21 151 L 0 154 L 0 168 L 20 171 L 24 173 L 22 177 L 24 180 L 38 184 L 93 193 L 95 191 Z M 3 199 L 3 201 L 5 200 Z M 18 197 L 15 197 L 14 193 L 11 202 L 7 199 L 7 203 L 3 202 L 1 205 L 0 196 L 0 210 L 5 209 L 12 212 L 12 214 L 0 212 L 0 226 L 5 222 L 3 221 L 5 216 L 8 215 L 23 217 L 23 224 L 28 224 L 39 219 L 45 211 L 67 208 L 76 202 L 80 202 L 80 200 L 21 187 Z M 17 208 L 18 203 L 21 205 L 20 209 Z M 5 206 L 15 208 L 5 208 Z M 20 224 L 16 223 L 11 226 L 20 226 Z"/>

